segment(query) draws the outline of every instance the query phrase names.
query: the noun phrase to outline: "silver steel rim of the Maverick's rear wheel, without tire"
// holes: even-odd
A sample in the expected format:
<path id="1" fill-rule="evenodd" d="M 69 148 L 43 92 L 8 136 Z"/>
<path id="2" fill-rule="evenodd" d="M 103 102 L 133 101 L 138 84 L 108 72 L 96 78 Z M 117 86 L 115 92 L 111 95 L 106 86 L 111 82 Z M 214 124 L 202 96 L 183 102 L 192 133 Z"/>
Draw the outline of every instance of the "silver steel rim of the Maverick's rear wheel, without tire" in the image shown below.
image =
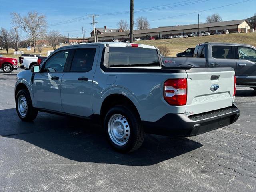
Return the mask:
<path id="1" fill-rule="evenodd" d="M 123 146 L 130 136 L 130 126 L 126 118 L 120 114 L 114 114 L 108 121 L 108 134 L 114 144 Z"/>

